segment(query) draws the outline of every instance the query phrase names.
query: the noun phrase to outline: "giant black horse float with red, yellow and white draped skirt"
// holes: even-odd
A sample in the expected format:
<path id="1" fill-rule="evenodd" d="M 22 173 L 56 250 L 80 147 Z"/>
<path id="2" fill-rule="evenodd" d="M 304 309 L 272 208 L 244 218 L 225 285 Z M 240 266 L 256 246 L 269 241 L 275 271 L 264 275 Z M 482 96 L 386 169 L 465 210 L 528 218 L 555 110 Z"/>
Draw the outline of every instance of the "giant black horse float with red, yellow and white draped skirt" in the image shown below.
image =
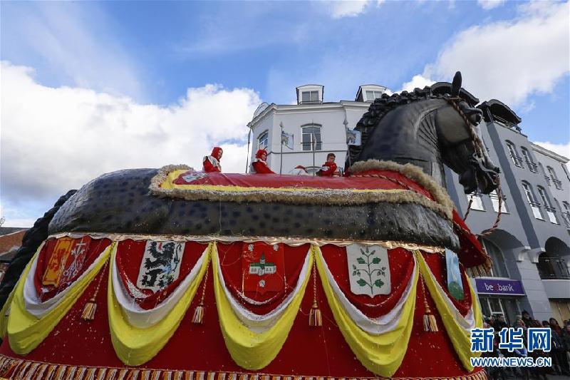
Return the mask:
<path id="1" fill-rule="evenodd" d="M 497 188 L 477 103 L 459 73 L 384 95 L 342 178 L 170 165 L 69 192 L 2 284 L 0 376 L 484 379 L 466 271 L 489 257 L 443 171 Z"/>

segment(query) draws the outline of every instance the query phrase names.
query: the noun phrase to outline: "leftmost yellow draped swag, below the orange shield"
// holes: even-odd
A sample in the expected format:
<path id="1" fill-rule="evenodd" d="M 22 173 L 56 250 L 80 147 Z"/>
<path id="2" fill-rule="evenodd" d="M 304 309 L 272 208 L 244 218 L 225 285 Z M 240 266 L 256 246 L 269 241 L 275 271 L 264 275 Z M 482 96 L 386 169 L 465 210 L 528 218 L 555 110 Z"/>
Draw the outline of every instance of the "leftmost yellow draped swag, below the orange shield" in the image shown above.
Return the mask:
<path id="1" fill-rule="evenodd" d="M 34 255 L 26 266 L 26 269 L 24 269 L 18 284 L 16 284 L 10 296 L 11 299 L 6 302 L 1 312 L 4 320 L 1 321 L 2 325 L 0 329 L 2 332 L 7 332 L 10 348 L 16 354 L 28 354 L 28 352 L 43 342 L 43 339 L 46 339 L 51 330 L 66 316 L 69 309 L 76 303 L 86 287 L 88 287 L 93 278 L 95 278 L 103 265 L 105 265 L 113 245 L 105 248 L 103 253 L 101 253 L 102 256 L 97 258 L 93 267 L 91 267 L 90 271 L 83 278 L 78 279 L 68 287 L 67 294 L 61 299 L 57 307 L 54 307 L 43 317 L 38 318 L 26 311 L 24 304 L 24 284 L 26 283 L 26 277 L 28 276 L 33 260 L 36 259 L 42 247 L 43 245 L 38 248 L 36 255 Z M 6 307 L 10 307 L 10 315 L 7 317 L 7 323 L 4 317 L 4 309 Z"/>

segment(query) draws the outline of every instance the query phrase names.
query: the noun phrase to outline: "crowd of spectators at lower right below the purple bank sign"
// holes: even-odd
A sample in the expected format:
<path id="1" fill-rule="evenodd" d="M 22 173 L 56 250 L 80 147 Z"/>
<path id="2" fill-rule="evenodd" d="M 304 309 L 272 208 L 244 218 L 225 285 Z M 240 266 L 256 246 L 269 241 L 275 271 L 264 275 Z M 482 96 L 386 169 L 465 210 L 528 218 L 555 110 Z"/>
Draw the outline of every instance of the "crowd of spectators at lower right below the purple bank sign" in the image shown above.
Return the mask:
<path id="1" fill-rule="evenodd" d="M 484 327 L 492 327 L 495 332 L 495 339 L 493 351 L 487 353 L 486 356 L 518 356 L 518 357 L 532 357 L 535 361 L 538 357 L 550 357 L 552 365 L 549 367 L 519 367 L 519 368 L 502 368 L 502 367 L 489 367 L 486 368 L 487 375 L 490 379 L 507 379 L 507 377 L 517 377 L 522 379 L 548 379 L 547 375 L 561 375 L 569 376 L 570 378 L 570 319 L 558 323 L 555 318 L 548 321 L 539 321 L 532 318 L 532 316 L 524 310 L 521 315 L 517 315 L 514 328 L 524 329 L 523 340 L 524 348 L 515 349 L 509 352 L 507 349 L 499 349 L 499 332 L 509 327 L 502 314 L 492 315 L 484 319 Z M 539 350 L 527 351 L 527 329 L 529 327 L 541 327 L 551 329 L 551 350 L 544 352 Z"/>

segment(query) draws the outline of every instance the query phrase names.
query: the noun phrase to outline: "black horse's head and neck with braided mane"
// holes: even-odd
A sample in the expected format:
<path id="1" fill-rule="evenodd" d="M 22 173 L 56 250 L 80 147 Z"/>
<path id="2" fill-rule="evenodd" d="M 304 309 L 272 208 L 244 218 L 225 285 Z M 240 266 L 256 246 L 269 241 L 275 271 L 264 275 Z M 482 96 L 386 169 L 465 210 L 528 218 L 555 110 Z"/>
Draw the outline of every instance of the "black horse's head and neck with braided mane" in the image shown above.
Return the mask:
<path id="1" fill-rule="evenodd" d="M 362 145 L 351 145 L 347 168 L 371 159 L 411 163 L 445 187 L 445 164 L 460 175 L 466 193 L 495 190 L 499 168 L 482 144 L 479 100 L 461 88 L 460 72 L 447 84 L 376 99 L 356 125 Z"/>

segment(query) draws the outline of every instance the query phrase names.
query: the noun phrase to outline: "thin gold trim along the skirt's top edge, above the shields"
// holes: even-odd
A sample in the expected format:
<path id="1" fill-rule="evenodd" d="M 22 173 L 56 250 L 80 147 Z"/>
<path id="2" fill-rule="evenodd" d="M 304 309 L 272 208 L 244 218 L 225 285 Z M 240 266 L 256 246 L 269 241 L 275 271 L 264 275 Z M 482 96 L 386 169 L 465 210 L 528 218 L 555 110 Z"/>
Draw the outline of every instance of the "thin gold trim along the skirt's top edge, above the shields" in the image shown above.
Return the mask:
<path id="1" fill-rule="evenodd" d="M 291 237 L 268 237 L 268 236 L 219 236 L 219 235 L 140 235 L 140 234 L 113 234 L 101 232 L 58 232 L 50 235 L 48 239 L 60 239 L 61 237 L 81 238 L 89 236 L 93 239 L 109 239 L 114 242 L 122 242 L 123 240 L 153 240 L 155 242 L 175 241 L 175 242 L 266 242 L 268 244 L 283 243 L 291 247 L 299 247 L 304 244 L 314 244 L 322 247 L 323 245 L 336 245 L 338 247 L 346 247 L 354 243 L 361 245 L 380 245 L 388 250 L 394 248 L 403 248 L 409 251 L 421 250 L 428 253 L 445 252 L 443 247 L 435 247 L 433 245 L 418 245 L 409 242 L 399 242 L 395 240 L 348 240 L 348 239 L 300 239 Z"/>

